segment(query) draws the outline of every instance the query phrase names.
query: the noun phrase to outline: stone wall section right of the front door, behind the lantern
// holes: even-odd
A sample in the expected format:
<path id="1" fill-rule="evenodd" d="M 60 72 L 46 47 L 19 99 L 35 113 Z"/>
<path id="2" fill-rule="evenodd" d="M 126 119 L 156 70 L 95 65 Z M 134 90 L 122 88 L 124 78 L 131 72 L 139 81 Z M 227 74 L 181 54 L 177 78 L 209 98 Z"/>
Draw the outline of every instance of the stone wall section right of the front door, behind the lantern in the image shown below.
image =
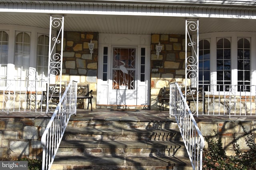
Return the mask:
<path id="1" fill-rule="evenodd" d="M 157 57 L 156 45 L 159 42 L 163 48 Z M 159 68 L 159 72 L 151 72 L 150 75 L 150 108 L 160 109 L 158 96 L 161 89 L 169 86 L 170 82 L 185 83 L 185 35 L 152 34 L 150 70 L 152 68 Z"/>

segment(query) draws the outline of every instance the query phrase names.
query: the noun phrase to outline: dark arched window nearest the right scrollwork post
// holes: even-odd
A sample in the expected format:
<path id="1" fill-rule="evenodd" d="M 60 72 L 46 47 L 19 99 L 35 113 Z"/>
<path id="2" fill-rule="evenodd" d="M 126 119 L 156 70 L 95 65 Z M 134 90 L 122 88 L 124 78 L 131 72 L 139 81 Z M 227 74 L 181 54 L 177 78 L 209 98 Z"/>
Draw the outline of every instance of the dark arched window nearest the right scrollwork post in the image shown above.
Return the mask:
<path id="1" fill-rule="evenodd" d="M 199 41 L 199 86 L 204 85 L 208 91 L 210 84 L 210 42 L 206 39 Z M 201 84 L 201 85 L 200 85 Z"/>

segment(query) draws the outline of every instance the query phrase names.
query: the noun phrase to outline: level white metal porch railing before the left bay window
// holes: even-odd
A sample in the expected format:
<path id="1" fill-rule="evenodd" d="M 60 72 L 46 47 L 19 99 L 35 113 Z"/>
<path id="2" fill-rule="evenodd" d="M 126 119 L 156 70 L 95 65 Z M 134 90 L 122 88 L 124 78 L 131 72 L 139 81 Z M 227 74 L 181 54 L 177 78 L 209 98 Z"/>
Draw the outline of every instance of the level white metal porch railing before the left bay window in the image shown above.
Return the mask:
<path id="1" fill-rule="evenodd" d="M 22 80 L 23 79 L 23 80 Z M 47 78 L 29 80 L 27 77 L 0 80 L 0 109 L 6 113 L 45 112 Z"/>

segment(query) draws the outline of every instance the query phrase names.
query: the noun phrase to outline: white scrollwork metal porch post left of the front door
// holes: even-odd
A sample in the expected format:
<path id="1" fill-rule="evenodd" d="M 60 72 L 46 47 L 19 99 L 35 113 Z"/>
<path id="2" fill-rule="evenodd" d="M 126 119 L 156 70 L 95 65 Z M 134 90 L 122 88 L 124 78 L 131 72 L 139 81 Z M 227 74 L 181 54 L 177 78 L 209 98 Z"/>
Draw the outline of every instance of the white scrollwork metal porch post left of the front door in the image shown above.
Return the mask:
<path id="1" fill-rule="evenodd" d="M 56 30 L 57 35 L 52 34 L 52 30 Z M 49 59 L 48 59 L 48 77 L 49 82 L 47 85 L 47 106 L 46 113 L 49 110 L 54 110 L 54 106 L 57 106 L 57 103 L 52 103 L 51 94 L 49 94 L 49 84 L 50 77 L 58 76 L 56 82 L 60 84 L 61 87 L 61 77 L 62 77 L 62 58 L 63 58 L 63 36 L 64 36 L 64 16 L 62 17 L 52 17 L 50 16 L 50 38 L 49 38 Z M 61 46 L 59 53 L 55 52 L 57 45 Z M 54 79 L 55 80 L 55 79 Z M 61 93 L 60 93 L 61 97 Z M 50 103 L 51 102 L 51 103 Z"/>

